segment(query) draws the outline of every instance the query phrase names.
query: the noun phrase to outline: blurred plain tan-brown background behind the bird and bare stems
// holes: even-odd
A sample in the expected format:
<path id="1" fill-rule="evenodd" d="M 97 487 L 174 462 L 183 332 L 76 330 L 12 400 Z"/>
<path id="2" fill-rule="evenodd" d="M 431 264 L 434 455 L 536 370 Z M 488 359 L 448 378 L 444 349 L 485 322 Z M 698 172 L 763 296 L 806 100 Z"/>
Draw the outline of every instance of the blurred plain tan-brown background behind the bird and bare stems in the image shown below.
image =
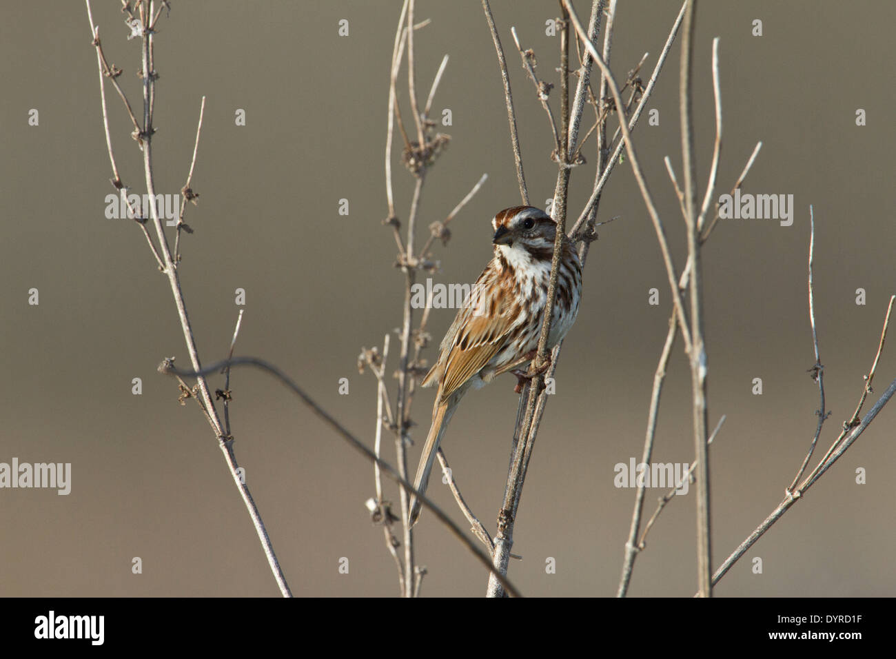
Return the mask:
<path id="1" fill-rule="evenodd" d="M 139 103 L 138 44 L 125 39 L 116 2 L 95 2 L 110 61 Z M 650 71 L 676 2 L 620 3 L 613 66 L 620 77 L 650 51 Z M 577 3 L 583 20 L 588 6 Z M 510 25 L 556 82 L 558 40 L 544 34 L 555 3 L 495 2 L 504 47 Z M 375 386 L 359 376 L 362 345 L 400 322 L 401 273 L 380 225 L 386 214 L 383 143 L 397 2 L 174 3 L 157 39 L 155 167 L 161 192 L 183 185 L 202 95 L 208 97 L 194 178 L 202 194 L 186 221 L 185 297 L 203 360 L 224 355 L 247 291 L 237 352 L 277 362 L 359 437 L 372 441 Z M 187 357 L 168 284 L 134 224 L 106 220 L 111 191 L 99 111 L 96 57 L 83 4 L 4 3 L 0 10 L 3 238 L 0 281 L 0 462 L 73 464 L 71 495 L 0 490 L 0 565 L 6 595 L 276 595 L 263 553 L 214 438 L 193 405 L 155 372 Z M 348 38 L 337 22 L 349 20 Z M 483 173 L 487 185 L 437 247 L 439 282 L 471 282 L 489 256 L 491 216 L 517 204 L 495 53 L 478 3 L 422 1 L 421 95 L 451 56 L 435 109 L 451 108 L 449 150 L 426 183 L 420 226 L 444 218 Z M 751 36 L 763 21 L 764 36 Z M 774 507 L 814 431 L 817 387 L 806 304 L 808 204 L 814 204 L 816 314 L 831 420 L 830 444 L 870 367 L 894 290 L 892 25 L 884 2 L 702 3 L 696 33 L 695 124 L 705 181 L 712 141 L 710 53 L 721 38 L 727 189 L 757 140 L 764 146 L 745 192 L 795 195 L 797 218 L 728 221 L 705 252 L 710 416 L 728 423 L 712 450 L 714 564 Z M 553 192 L 547 123 L 508 49 L 523 156 L 533 200 Z M 660 125 L 635 138 L 672 238 L 682 230 L 662 165 L 681 173 L 676 72 L 668 60 L 649 108 Z M 645 79 L 646 79 L 645 75 Z M 402 79 L 404 78 L 402 70 Z M 140 155 L 109 93 L 125 181 L 142 190 Z M 555 108 L 558 98 L 552 97 Z M 30 108 L 39 126 L 27 125 Z M 247 125 L 234 126 L 246 109 Z M 404 105 L 409 116 L 407 104 Z M 866 127 L 855 125 L 857 108 Z M 587 117 L 588 115 L 586 115 Z M 579 209 L 593 178 L 573 171 Z M 402 219 L 410 178 L 396 167 Z M 703 186 L 704 183 L 701 183 Z M 701 193 L 702 194 L 702 193 Z M 337 214 L 348 198 L 350 214 Z M 659 249 L 627 164 L 600 206 L 622 219 L 600 232 L 585 275 L 579 320 L 558 371 L 526 482 L 511 577 L 525 594 L 615 593 L 633 490 L 613 486 L 613 465 L 641 455 L 648 398 L 666 334 L 668 293 Z M 426 230 L 421 231 L 425 233 Z M 40 304 L 27 304 L 39 289 Z M 659 307 L 647 291 L 661 293 Z M 855 290 L 867 290 L 867 305 Z M 452 312 L 434 311 L 435 341 Z M 435 342 L 434 342 L 435 343 Z M 896 371 L 893 349 L 878 391 Z M 432 359 L 434 348 L 427 351 Z M 142 377 L 143 395 L 131 393 Z M 350 394 L 337 394 L 348 377 Z M 762 377 L 764 394 L 751 395 Z M 213 383 L 220 386 L 220 383 Z M 237 455 L 297 595 L 392 595 L 383 535 L 364 501 L 372 469 L 282 387 L 235 372 Z M 470 504 L 494 528 L 516 409 L 512 378 L 470 396 L 445 448 Z M 419 438 L 432 394 L 415 403 Z M 655 457 L 691 462 L 689 376 L 680 343 L 663 397 Z M 719 585 L 719 595 L 892 595 L 892 405 L 806 499 Z M 416 464 L 417 451 L 411 461 Z M 855 470 L 867 484 L 855 484 Z M 636 595 L 694 592 L 694 495 L 660 517 L 638 560 Z M 657 490 L 648 496 L 648 512 Z M 461 519 L 447 490 L 435 499 Z M 486 573 L 433 516 L 419 525 L 427 595 L 479 595 Z M 131 573 L 131 559 L 143 574 Z M 762 575 L 749 559 L 761 557 Z M 338 573 L 340 557 L 349 575 Z M 547 575 L 547 557 L 556 575 Z"/>

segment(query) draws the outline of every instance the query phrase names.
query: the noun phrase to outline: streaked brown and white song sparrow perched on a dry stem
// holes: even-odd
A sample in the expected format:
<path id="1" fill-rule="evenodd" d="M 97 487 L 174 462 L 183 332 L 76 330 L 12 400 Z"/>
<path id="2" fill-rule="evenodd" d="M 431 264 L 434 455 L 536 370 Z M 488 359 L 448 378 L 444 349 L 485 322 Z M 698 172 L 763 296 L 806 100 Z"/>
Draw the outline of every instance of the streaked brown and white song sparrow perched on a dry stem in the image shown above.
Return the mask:
<path id="1" fill-rule="evenodd" d="M 426 491 L 439 443 L 463 395 L 528 365 L 538 346 L 556 222 L 538 208 L 514 206 L 497 213 L 492 226 L 495 256 L 473 285 L 468 302 L 442 340 L 435 366 L 421 383 L 438 385 L 432 425 L 414 479 L 414 487 L 421 492 Z M 581 293 L 582 263 L 567 241 L 557 273 L 548 348 L 563 340 L 573 326 Z M 412 498 L 410 524 L 416 524 L 419 516 L 420 502 Z"/>

